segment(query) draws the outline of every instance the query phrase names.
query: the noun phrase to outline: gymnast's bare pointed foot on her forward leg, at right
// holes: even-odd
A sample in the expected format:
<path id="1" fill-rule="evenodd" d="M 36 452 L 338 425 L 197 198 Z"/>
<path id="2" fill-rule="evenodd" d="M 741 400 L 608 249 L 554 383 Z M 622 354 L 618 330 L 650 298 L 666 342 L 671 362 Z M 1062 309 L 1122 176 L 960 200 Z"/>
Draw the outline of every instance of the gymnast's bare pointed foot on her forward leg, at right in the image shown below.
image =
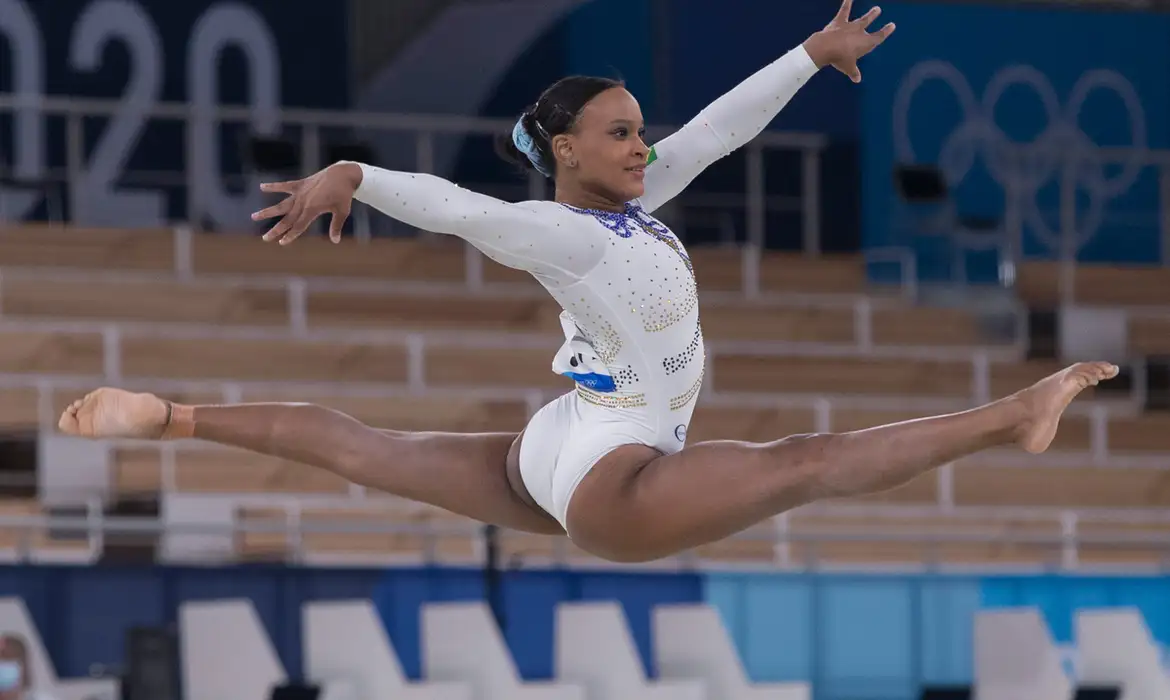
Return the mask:
<path id="1" fill-rule="evenodd" d="M 1116 376 L 1115 364 L 1079 362 L 1017 393 L 1016 398 L 1027 411 L 1027 419 L 1020 426 L 1016 442 L 1033 454 L 1044 452 L 1052 445 L 1060 417 L 1076 394 Z"/>

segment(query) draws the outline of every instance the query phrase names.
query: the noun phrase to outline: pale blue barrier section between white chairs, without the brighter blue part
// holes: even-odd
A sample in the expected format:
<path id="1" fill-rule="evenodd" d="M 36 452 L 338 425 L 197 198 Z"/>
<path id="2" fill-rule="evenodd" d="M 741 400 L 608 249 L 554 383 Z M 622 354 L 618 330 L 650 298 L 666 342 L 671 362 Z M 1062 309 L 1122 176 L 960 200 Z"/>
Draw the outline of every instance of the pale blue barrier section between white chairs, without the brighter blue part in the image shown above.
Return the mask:
<path id="1" fill-rule="evenodd" d="M 971 677 L 973 577 L 720 575 L 707 581 L 748 673 L 821 699 L 909 699 Z"/>

